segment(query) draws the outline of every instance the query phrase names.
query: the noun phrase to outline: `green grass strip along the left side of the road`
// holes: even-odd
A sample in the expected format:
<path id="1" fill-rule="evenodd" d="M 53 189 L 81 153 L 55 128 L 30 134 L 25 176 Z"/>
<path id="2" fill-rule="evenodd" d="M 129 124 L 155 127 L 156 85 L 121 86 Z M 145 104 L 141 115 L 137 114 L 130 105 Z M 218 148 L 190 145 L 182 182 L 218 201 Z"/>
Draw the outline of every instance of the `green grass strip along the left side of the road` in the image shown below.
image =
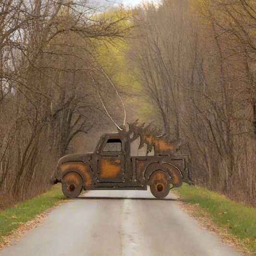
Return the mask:
<path id="1" fill-rule="evenodd" d="M 0 211 L 0 242 L 1 236 L 9 235 L 20 226 L 18 223 L 34 219 L 36 215 L 66 199 L 61 191 L 61 184 L 57 184 L 49 192 Z"/>

